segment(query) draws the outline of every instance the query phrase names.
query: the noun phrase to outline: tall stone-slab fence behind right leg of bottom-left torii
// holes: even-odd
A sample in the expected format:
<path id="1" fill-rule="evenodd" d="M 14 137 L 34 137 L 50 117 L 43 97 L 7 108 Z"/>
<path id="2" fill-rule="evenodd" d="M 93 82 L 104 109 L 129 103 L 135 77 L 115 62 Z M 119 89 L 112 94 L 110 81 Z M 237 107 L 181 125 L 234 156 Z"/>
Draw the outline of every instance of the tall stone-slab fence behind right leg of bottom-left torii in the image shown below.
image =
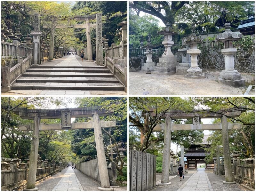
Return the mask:
<path id="1" fill-rule="evenodd" d="M 83 163 L 76 164 L 76 169 L 85 175 L 91 177 L 92 179 L 100 182 L 100 172 L 98 159 L 93 159 L 91 161 L 86 161 Z M 114 162 L 110 162 L 110 166 L 108 166 L 108 178 L 111 186 L 116 185 L 116 165 Z"/>

